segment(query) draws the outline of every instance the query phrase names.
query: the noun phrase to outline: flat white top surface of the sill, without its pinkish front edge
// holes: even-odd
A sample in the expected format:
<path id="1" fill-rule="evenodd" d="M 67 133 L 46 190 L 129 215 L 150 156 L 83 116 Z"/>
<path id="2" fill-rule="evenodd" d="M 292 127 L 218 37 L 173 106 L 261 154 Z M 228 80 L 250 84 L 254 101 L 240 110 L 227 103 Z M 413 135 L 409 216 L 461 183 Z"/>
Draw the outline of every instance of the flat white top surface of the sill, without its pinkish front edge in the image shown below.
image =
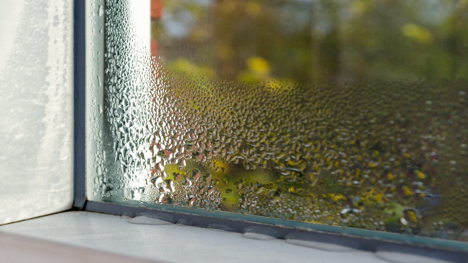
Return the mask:
<path id="1" fill-rule="evenodd" d="M 248 239 L 238 233 L 176 224 L 132 224 L 128 220 L 92 212 L 63 212 L 0 226 L 0 232 L 165 262 L 386 262 L 365 251 L 327 251 L 285 240 Z"/>

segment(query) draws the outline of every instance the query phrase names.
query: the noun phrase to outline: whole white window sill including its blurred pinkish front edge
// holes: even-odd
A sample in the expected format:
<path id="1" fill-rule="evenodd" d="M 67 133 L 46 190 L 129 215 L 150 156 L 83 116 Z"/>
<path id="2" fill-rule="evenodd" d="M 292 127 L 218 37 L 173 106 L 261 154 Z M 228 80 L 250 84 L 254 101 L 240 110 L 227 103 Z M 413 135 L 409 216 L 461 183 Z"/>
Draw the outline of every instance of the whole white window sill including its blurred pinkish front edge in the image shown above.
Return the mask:
<path id="1" fill-rule="evenodd" d="M 63 212 L 0 226 L 0 255 L 12 256 L 7 262 L 64 262 L 64 258 L 67 262 L 130 262 L 129 257 L 132 262 L 388 262 L 366 251 L 328 251 L 279 239 L 254 240 L 194 226 L 138 225 L 128 220 Z M 423 261 L 419 259 L 415 262 Z M 426 258 L 424 262 L 441 261 Z"/>

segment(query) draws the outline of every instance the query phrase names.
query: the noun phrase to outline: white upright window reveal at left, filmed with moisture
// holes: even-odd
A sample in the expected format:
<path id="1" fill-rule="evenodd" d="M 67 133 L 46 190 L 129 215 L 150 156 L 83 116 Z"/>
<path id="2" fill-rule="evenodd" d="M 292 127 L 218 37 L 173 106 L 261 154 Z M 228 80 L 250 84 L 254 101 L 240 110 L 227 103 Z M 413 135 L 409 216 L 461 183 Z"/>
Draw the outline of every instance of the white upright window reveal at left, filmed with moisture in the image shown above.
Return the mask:
<path id="1" fill-rule="evenodd" d="M 1 1 L 0 224 L 72 208 L 73 1 Z"/>

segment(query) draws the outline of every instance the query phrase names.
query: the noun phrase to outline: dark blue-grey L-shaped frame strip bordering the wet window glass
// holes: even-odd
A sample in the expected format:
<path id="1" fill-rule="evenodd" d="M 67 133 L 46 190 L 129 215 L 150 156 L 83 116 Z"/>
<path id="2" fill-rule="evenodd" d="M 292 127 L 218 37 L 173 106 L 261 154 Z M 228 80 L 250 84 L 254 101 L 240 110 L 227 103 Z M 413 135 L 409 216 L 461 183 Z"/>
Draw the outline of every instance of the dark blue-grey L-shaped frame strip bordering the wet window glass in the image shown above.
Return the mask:
<path id="1" fill-rule="evenodd" d="M 254 215 L 229 217 L 229 212 L 195 211 L 161 205 L 160 209 L 106 202 L 89 201 L 86 193 L 87 136 L 89 131 L 90 88 L 97 81 L 104 81 L 104 23 L 105 0 L 74 2 L 74 210 L 99 212 L 112 215 L 145 215 L 173 223 L 205 228 L 219 228 L 231 232 L 256 232 L 269 234 L 278 239 L 301 239 L 338 245 L 356 245 L 359 250 L 392 251 L 431 256 L 452 262 L 465 262 L 468 258 L 468 243 L 429 237 L 378 232 L 351 227 L 329 226 L 292 220 L 271 219 Z M 101 12 L 101 13 L 100 13 Z M 94 29 L 92 27 L 95 27 Z M 92 35 L 102 29 L 102 34 Z M 99 30 L 98 30 L 99 31 Z M 100 55 L 96 55 L 100 54 Z M 98 65 L 98 66 L 96 66 Z M 87 97 L 88 95 L 88 97 Z M 410 251 L 410 252 L 408 252 Z"/>

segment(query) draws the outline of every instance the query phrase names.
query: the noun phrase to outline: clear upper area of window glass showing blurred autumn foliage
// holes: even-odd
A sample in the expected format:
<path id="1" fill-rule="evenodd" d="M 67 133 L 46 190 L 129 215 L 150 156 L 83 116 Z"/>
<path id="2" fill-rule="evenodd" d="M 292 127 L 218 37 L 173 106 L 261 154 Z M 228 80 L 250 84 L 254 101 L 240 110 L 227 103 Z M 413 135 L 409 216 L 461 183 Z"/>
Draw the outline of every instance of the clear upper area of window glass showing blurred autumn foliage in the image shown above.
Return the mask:
<path id="1" fill-rule="evenodd" d="M 468 76 L 467 0 L 153 0 L 154 56 L 210 78 Z"/>

